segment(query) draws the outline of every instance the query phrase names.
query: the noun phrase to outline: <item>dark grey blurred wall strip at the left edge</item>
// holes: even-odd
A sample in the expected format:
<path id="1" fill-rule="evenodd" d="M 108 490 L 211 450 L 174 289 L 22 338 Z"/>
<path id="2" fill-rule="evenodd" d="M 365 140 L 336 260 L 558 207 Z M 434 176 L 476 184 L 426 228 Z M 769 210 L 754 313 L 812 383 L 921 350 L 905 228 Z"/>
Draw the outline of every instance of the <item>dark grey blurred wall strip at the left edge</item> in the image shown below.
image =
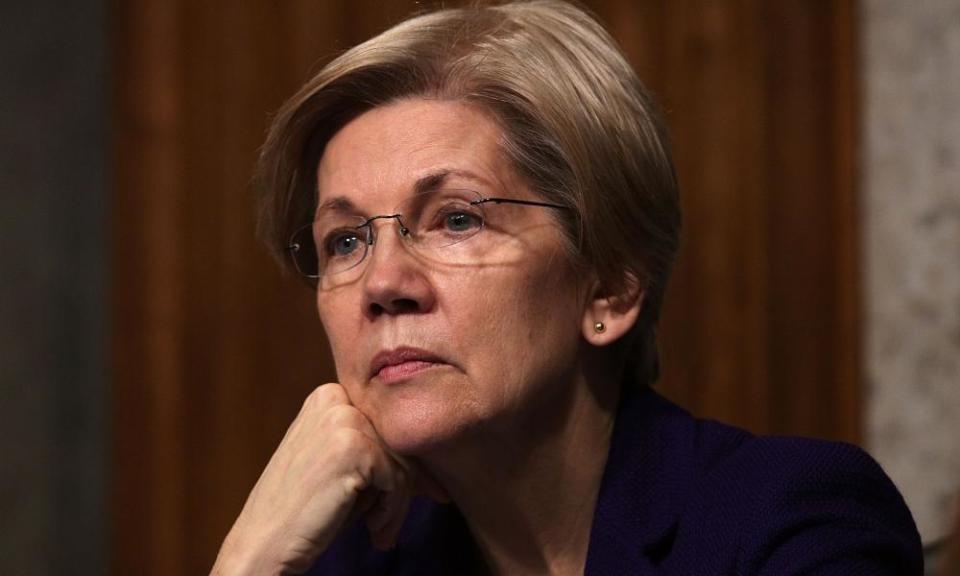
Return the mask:
<path id="1" fill-rule="evenodd" d="M 105 30 L 0 3 L 0 574 L 101 574 Z"/>

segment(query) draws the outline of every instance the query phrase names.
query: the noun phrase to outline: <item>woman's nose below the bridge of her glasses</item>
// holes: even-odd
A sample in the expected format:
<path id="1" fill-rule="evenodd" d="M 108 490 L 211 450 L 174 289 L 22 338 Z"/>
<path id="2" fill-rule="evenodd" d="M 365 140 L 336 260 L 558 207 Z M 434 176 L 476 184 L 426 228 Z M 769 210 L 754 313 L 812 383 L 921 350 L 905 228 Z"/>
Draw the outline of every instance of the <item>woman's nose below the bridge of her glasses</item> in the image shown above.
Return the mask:
<path id="1" fill-rule="evenodd" d="M 436 302 L 423 263 L 404 245 L 403 223 L 390 224 L 373 234 L 363 271 L 363 309 L 371 319 L 428 312 Z"/>

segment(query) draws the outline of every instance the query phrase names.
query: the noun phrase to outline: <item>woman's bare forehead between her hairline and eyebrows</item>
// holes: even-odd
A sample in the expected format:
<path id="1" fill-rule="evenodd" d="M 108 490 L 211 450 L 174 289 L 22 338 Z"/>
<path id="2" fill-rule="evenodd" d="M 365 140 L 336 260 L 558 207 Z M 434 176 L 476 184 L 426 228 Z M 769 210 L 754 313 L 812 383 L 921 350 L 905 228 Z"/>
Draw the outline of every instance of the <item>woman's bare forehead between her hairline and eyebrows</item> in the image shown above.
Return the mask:
<path id="1" fill-rule="evenodd" d="M 374 108 L 327 143 L 317 167 L 320 203 L 373 208 L 425 182 L 488 194 L 516 186 L 501 137 L 493 120 L 461 102 L 409 99 Z"/>

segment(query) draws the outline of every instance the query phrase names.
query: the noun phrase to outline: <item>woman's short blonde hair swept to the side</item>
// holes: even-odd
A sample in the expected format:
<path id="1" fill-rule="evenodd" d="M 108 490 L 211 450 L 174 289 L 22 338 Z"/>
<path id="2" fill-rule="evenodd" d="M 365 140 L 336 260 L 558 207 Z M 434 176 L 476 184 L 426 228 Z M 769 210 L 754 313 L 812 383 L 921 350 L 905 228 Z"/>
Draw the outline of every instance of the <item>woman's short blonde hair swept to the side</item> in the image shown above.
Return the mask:
<path id="1" fill-rule="evenodd" d="M 312 220 L 326 142 L 363 112 L 408 97 L 468 102 L 498 122 L 531 190 L 571 208 L 559 217 L 573 261 L 607 294 L 644 290 L 620 346 L 636 380 L 655 381 L 680 230 L 667 131 L 613 39 L 567 2 L 423 14 L 325 66 L 279 110 L 261 153 L 260 225 L 274 254 L 286 262 L 290 234 Z"/>

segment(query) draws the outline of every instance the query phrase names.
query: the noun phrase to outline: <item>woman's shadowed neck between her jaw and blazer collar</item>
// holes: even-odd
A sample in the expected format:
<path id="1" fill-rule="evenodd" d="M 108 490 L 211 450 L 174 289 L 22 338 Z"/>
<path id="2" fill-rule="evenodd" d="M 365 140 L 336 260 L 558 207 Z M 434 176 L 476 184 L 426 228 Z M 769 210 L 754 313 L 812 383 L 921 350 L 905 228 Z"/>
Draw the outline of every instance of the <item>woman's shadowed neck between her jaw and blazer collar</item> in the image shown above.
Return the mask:
<path id="1" fill-rule="evenodd" d="M 583 573 L 619 399 L 606 388 L 575 383 L 423 459 L 494 574 Z"/>

